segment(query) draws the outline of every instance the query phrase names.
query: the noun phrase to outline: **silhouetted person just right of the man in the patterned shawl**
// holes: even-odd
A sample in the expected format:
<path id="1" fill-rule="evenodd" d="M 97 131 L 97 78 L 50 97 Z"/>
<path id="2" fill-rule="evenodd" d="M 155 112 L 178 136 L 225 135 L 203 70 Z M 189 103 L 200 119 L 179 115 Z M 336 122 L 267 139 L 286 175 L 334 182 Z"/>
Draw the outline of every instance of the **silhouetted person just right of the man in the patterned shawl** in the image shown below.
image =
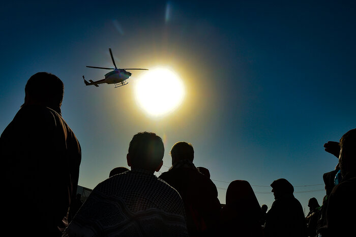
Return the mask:
<path id="1" fill-rule="evenodd" d="M 221 209 L 215 184 L 194 166 L 190 143 L 175 143 L 170 154 L 172 167 L 159 178 L 181 194 L 190 236 L 215 235 Z"/>

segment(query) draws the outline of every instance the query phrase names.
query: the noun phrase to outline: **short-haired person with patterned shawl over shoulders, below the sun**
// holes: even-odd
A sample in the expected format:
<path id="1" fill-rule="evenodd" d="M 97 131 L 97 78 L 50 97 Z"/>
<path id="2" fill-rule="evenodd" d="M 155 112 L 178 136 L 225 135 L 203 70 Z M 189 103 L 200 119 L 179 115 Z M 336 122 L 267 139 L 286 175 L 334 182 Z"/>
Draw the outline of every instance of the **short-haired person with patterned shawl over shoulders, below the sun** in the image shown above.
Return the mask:
<path id="1" fill-rule="evenodd" d="M 64 236 L 188 236 L 182 198 L 154 175 L 163 155 L 155 133 L 134 135 L 127 154 L 131 170 L 98 184 Z"/>

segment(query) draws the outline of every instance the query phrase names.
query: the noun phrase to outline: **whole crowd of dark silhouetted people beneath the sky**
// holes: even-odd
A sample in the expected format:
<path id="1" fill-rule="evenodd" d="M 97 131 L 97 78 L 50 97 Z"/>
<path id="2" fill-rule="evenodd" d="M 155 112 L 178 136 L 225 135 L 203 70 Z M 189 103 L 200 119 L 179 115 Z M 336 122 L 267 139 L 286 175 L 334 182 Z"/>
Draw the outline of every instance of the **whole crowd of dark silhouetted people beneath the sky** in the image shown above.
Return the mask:
<path id="1" fill-rule="evenodd" d="M 270 210 L 245 180 L 232 181 L 226 204 L 210 179 L 196 167 L 192 144 L 179 141 L 172 165 L 163 165 L 162 139 L 139 132 L 129 143 L 127 164 L 116 167 L 82 202 L 77 194 L 81 147 L 64 121 L 63 82 L 53 74 L 33 75 L 25 101 L 0 137 L 5 162 L 3 226 L 15 236 L 356 236 L 356 129 L 340 142 L 324 144 L 339 162 L 322 175 L 321 206 L 310 198 L 305 217 L 293 185 L 272 182 Z M 21 192 L 19 192 L 21 190 Z"/>

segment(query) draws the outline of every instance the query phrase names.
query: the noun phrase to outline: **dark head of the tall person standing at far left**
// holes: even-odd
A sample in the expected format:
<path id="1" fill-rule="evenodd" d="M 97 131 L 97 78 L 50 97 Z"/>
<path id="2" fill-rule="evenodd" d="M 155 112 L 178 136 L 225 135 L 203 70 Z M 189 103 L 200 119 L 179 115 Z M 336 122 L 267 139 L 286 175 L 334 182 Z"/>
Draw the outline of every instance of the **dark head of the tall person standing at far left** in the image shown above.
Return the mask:
<path id="1" fill-rule="evenodd" d="M 61 107 L 64 84 L 60 78 L 51 73 L 38 72 L 28 79 L 25 95 L 48 107 Z"/>

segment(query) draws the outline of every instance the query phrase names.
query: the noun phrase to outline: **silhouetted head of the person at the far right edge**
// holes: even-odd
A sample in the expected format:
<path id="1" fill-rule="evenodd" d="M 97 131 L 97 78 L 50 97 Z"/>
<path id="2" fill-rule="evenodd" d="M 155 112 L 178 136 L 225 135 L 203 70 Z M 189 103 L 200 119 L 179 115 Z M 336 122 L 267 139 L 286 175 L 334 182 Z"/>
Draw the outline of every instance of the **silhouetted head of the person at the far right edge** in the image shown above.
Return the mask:
<path id="1" fill-rule="evenodd" d="M 340 139 L 339 165 L 343 177 L 356 172 L 356 129 L 351 129 Z"/>

